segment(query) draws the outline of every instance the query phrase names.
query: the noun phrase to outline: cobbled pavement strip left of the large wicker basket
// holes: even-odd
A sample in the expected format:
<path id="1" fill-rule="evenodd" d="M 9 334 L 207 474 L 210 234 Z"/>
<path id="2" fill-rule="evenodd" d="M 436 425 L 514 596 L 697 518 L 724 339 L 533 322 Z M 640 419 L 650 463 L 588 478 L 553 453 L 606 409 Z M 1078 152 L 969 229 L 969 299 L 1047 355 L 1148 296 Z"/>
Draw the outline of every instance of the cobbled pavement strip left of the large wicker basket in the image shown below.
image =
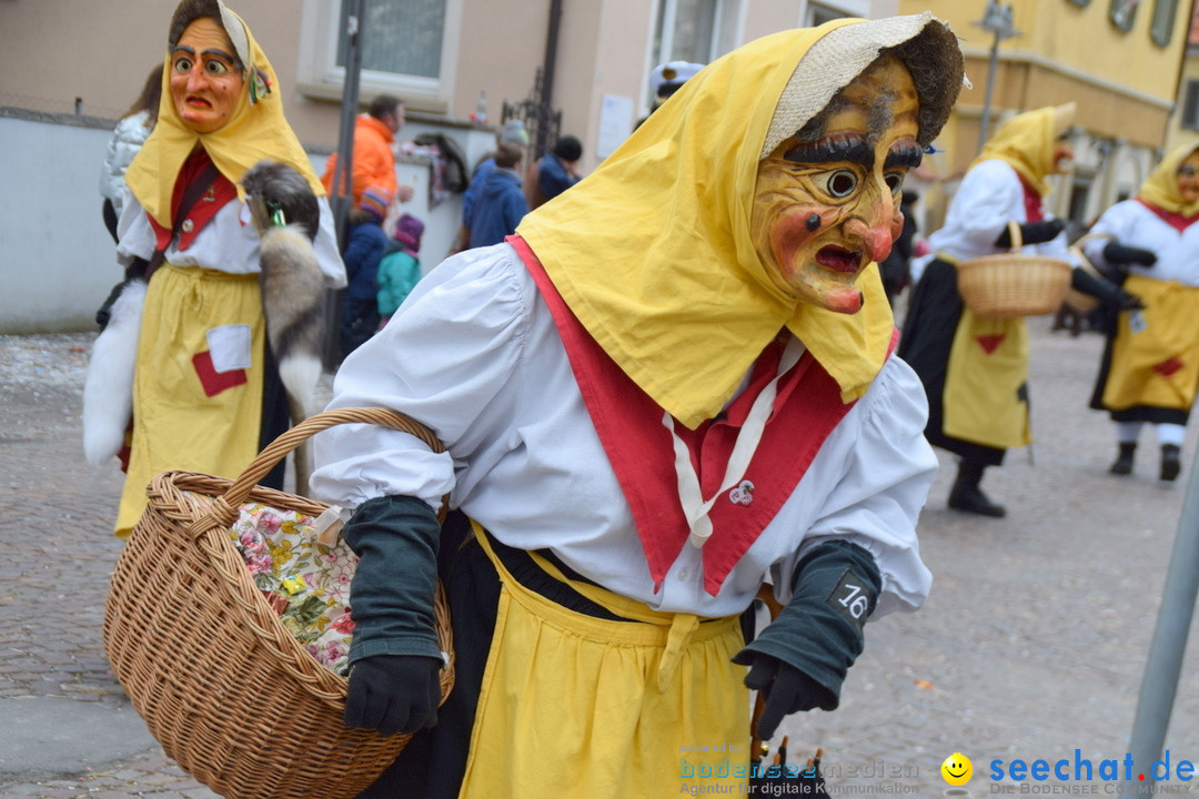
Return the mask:
<path id="1" fill-rule="evenodd" d="M 0 337 L 0 797 L 215 797 L 157 747 L 101 644 L 121 473 L 83 460 L 92 338 Z"/>

